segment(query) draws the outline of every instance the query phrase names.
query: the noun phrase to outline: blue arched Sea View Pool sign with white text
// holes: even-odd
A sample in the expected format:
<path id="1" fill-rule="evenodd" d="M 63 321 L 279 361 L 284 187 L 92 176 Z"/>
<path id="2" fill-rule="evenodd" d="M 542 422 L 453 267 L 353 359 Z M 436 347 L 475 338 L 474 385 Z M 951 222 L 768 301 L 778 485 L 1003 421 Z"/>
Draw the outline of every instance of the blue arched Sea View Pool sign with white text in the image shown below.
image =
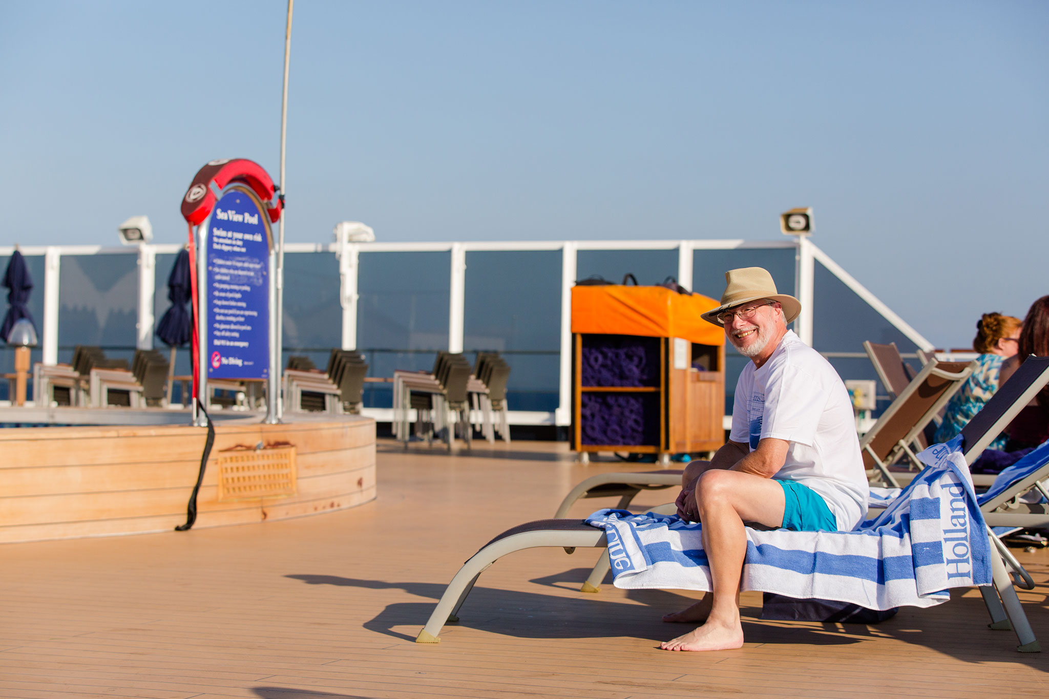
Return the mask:
<path id="1" fill-rule="evenodd" d="M 247 189 L 229 189 L 211 213 L 207 237 L 208 378 L 270 376 L 269 220 Z"/>

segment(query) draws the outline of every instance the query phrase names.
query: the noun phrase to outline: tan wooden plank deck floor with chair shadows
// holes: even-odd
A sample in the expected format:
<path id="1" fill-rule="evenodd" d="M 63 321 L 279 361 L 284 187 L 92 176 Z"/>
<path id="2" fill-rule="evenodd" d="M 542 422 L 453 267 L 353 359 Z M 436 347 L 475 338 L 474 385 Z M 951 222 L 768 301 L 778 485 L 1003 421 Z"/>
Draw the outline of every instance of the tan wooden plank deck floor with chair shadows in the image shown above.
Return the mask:
<path id="1" fill-rule="evenodd" d="M 611 462 L 563 444 L 449 456 L 380 444 L 379 499 L 299 520 L 0 546 L 0 697 L 987 697 L 1049 692 L 1049 551 L 1019 556 L 1046 653 L 975 591 L 874 627 L 756 619 L 738 651 L 665 653 L 673 591 L 578 592 L 597 551 L 534 549 L 479 580 L 443 642 L 415 634 L 495 533 Z M 646 494 L 639 504 L 668 499 Z M 608 501 L 577 503 L 584 516 Z"/>

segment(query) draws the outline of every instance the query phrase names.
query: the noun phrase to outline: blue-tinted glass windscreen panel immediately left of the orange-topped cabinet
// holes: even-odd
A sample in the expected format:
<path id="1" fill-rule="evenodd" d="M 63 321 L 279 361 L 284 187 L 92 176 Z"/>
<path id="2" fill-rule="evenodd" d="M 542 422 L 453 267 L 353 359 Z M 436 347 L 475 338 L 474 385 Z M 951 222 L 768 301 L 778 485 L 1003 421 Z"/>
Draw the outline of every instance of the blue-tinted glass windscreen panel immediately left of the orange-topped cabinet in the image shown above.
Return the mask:
<path id="1" fill-rule="evenodd" d="M 463 348 L 504 356 L 510 410 L 557 409 L 560 347 L 561 252 L 468 252 Z"/>

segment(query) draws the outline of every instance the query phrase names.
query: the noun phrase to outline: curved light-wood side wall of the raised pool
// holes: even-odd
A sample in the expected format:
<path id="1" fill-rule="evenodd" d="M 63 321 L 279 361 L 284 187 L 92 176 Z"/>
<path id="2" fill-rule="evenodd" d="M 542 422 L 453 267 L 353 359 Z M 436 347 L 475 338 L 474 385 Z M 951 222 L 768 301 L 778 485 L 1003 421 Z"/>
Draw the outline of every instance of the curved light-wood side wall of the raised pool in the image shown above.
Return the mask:
<path id="1" fill-rule="evenodd" d="M 216 421 L 194 528 L 319 515 L 374 500 L 374 420 L 325 418 L 331 419 Z M 186 522 L 206 439 L 207 430 L 189 425 L 0 430 L 0 543 L 174 533 Z M 294 494 L 221 492 L 228 457 L 270 453 L 254 451 L 260 442 L 294 447 L 283 450 L 294 452 L 294 479 L 278 474 L 294 481 Z"/>

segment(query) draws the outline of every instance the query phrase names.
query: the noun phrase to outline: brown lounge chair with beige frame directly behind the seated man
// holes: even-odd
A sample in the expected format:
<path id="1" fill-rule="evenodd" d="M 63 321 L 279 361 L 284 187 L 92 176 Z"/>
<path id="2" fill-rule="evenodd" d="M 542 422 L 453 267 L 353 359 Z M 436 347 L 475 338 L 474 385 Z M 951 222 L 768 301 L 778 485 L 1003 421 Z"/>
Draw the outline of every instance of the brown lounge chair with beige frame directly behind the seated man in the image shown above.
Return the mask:
<path id="1" fill-rule="evenodd" d="M 885 409 L 881 418 L 860 440 L 863 465 L 874 481 L 884 481 L 889 487 L 899 487 L 898 478 L 889 465 L 901 457 L 920 465 L 913 449 L 925 425 L 972 373 L 969 364 L 936 362 L 925 365 L 913 381 L 901 390 L 900 396 Z M 598 474 L 581 481 L 569 492 L 554 517 L 564 517 L 580 498 L 618 497 L 619 509 L 626 509 L 634 497 L 642 490 L 659 490 L 681 486 L 682 471 L 665 468 L 638 473 Z M 911 476 L 907 474 L 906 476 Z M 989 483 L 989 481 L 987 481 Z"/>

